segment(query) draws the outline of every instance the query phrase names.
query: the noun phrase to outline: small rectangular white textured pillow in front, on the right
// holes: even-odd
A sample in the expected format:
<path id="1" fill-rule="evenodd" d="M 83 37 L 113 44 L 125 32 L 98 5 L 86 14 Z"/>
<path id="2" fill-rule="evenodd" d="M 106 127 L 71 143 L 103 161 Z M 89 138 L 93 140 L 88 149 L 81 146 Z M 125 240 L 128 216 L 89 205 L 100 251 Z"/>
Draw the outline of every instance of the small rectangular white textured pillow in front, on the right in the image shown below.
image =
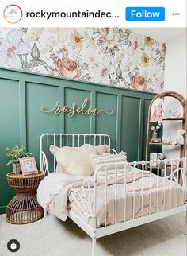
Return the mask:
<path id="1" fill-rule="evenodd" d="M 105 154 L 102 156 L 92 155 L 91 156 L 92 166 L 93 166 L 93 173 L 100 169 L 97 173 L 97 176 L 105 176 L 105 166 L 106 165 L 118 165 L 117 173 L 124 172 L 124 164 L 127 161 L 127 154 L 120 153 L 120 154 Z M 103 167 L 103 168 L 102 168 Z M 115 168 L 113 166 L 109 166 L 108 174 L 114 174 Z"/>

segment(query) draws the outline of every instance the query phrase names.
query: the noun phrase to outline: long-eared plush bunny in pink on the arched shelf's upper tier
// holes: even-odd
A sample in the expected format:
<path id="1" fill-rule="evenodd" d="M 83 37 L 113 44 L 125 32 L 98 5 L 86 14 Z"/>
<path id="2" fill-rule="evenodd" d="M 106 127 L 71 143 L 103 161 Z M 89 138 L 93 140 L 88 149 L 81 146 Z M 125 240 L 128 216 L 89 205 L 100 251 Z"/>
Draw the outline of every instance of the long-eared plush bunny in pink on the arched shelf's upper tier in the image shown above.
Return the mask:
<path id="1" fill-rule="evenodd" d="M 160 126 L 163 124 L 162 119 L 164 118 L 165 106 L 163 99 L 155 99 L 151 106 L 151 122 L 158 122 Z"/>

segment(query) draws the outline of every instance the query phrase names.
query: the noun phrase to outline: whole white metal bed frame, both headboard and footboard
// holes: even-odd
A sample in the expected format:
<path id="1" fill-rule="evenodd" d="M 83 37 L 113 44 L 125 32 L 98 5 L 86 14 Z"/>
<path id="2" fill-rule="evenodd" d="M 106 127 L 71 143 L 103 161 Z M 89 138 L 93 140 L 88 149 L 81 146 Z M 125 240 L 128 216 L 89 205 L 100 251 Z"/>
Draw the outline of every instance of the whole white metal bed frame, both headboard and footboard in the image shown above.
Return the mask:
<path id="1" fill-rule="evenodd" d="M 40 136 L 40 169 L 43 170 L 45 173 L 49 173 L 50 166 L 53 169 L 53 172 L 55 172 L 55 157 L 50 155 L 49 152 L 49 146 L 50 145 L 58 145 L 58 146 L 81 146 L 82 144 L 90 143 L 92 145 L 103 145 L 107 144 L 110 147 L 111 140 L 109 138 L 109 135 L 107 134 L 42 134 Z M 114 149 L 111 149 L 113 153 L 116 153 Z M 50 164 L 50 161 L 51 164 Z M 179 172 L 181 172 L 182 180 L 183 180 L 183 193 L 185 193 L 185 184 L 186 178 L 185 178 L 185 158 L 177 159 L 177 168 L 174 166 L 173 163 L 176 163 L 176 160 L 170 159 L 170 173 L 166 176 L 166 165 L 168 160 L 164 161 L 156 161 L 156 167 L 157 167 L 157 176 L 160 169 L 160 164 L 162 162 L 162 165 L 164 165 L 164 170 L 162 173 L 164 173 L 163 179 L 164 179 L 164 202 L 163 202 L 163 209 L 162 211 L 158 211 L 158 179 L 157 179 L 157 212 L 151 213 L 151 196 L 149 196 L 150 204 L 149 204 L 149 214 L 146 216 L 143 216 L 143 181 L 142 181 L 142 202 L 141 202 L 141 216 L 139 218 L 135 218 L 135 188 L 133 189 L 133 205 L 132 205 L 132 219 L 127 220 L 126 219 L 126 197 L 127 197 L 127 191 L 126 191 L 126 170 L 128 165 L 132 165 L 134 169 L 134 180 L 135 180 L 135 167 L 138 165 L 141 166 L 141 169 L 146 172 L 146 166 L 147 164 L 150 165 L 150 173 L 152 173 L 153 166 L 155 166 L 155 163 L 153 161 L 133 161 L 128 162 L 124 165 L 124 221 L 121 223 L 116 223 L 116 211 L 117 211 L 117 203 L 116 203 L 116 183 L 115 183 L 115 209 L 114 209 L 114 218 L 115 223 L 112 225 L 106 224 L 107 219 L 107 191 L 108 191 L 108 171 L 109 168 L 113 167 L 114 169 L 114 176 L 117 180 L 117 177 L 119 176 L 119 166 L 118 165 L 105 165 L 105 226 L 104 227 L 97 227 L 97 215 L 96 215 L 96 208 L 97 208 L 97 180 L 98 180 L 98 173 L 101 171 L 101 169 L 97 169 L 97 172 L 92 177 L 88 177 L 83 183 L 81 188 L 79 189 L 71 189 L 71 194 L 74 197 L 74 200 L 76 201 L 76 205 L 74 204 L 74 208 L 76 208 L 76 211 L 78 211 L 79 215 L 77 215 L 74 211 L 69 210 L 68 216 L 74 221 L 74 223 L 77 223 L 79 227 L 82 228 L 83 231 L 85 231 L 90 237 L 93 239 L 93 246 L 92 246 L 92 256 L 96 254 L 96 240 L 98 238 L 101 238 L 105 235 L 110 235 L 119 231 L 124 231 L 131 227 L 136 227 L 139 225 L 142 225 L 144 223 L 149 223 L 157 219 L 162 219 L 170 215 L 175 215 L 181 211 L 186 211 L 186 204 L 183 204 L 182 206 L 175 208 L 170 208 L 169 210 L 165 210 L 165 183 L 166 179 L 170 180 L 170 188 L 172 185 L 172 181 L 178 180 Z M 182 163 L 182 168 L 179 168 L 180 163 Z M 120 165 L 121 168 L 121 165 Z M 102 169 L 103 172 L 103 169 Z M 142 176 L 143 180 L 143 176 Z M 90 183 L 93 183 L 94 186 L 94 199 L 93 204 L 91 204 L 91 198 L 90 198 Z M 134 183 L 135 184 L 135 183 Z M 85 194 L 85 188 L 88 189 L 88 197 L 86 197 Z M 178 192 L 178 182 L 177 182 L 177 192 Z M 151 176 L 150 176 L 150 191 L 149 195 L 151 195 Z M 170 192 L 170 206 L 172 204 L 172 195 Z M 92 219 L 92 224 L 88 223 L 88 221 Z M 186 224 L 186 223 L 185 223 Z M 185 227 L 185 233 L 186 233 L 186 227 Z"/>

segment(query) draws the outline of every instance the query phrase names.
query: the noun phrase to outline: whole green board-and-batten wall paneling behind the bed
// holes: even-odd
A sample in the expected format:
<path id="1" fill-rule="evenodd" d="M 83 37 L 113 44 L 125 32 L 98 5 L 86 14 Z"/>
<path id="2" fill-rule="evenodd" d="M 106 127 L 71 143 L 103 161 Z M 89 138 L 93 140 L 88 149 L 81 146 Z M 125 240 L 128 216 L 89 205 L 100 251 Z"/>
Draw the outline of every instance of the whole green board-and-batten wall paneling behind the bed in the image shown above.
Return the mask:
<path id="1" fill-rule="evenodd" d="M 109 134 L 118 152 L 127 151 L 129 161 L 142 160 L 147 107 L 153 97 L 155 94 L 143 91 L 0 68 L 0 213 L 13 196 L 6 182 L 6 173 L 11 171 L 6 165 L 6 146 L 24 145 L 39 167 L 40 134 L 101 133 Z M 87 107 L 113 110 L 113 114 L 74 114 L 70 118 L 40 111 L 41 106 L 50 109 L 57 101 L 62 106 L 80 106 L 85 98 L 89 99 Z"/>

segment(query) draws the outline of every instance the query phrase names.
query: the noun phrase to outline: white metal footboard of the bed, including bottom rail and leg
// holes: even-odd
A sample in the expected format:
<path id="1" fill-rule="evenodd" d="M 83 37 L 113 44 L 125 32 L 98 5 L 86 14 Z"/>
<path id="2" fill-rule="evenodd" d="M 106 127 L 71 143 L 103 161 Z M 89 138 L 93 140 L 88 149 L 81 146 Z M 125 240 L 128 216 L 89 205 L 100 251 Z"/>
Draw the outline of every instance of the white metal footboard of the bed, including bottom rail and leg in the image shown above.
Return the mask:
<path id="1" fill-rule="evenodd" d="M 170 161 L 170 170 L 167 170 L 167 163 Z M 153 173 L 153 168 L 155 169 L 156 164 L 156 173 Z M 177 165 L 176 165 L 177 164 Z M 127 219 L 126 215 L 126 204 L 127 204 L 127 168 L 128 165 L 131 165 L 133 168 L 133 200 L 132 200 L 132 219 Z M 149 171 L 145 169 L 145 167 L 149 165 Z M 158 211 L 158 175 L 159 175 L 159 169 L 160 166 L 163 166 L 162 168 L 162 182 L 163 182 L 163 202 L 162 202 L 162 210 Z M 142 169 L 142 174 L 149 172 L 150 178 L 149 178 L 149 189 L 148 189 L 148 195 L 149 195 L 149 205 L 148 205 L 148 214 L 143 215 L 143 175 L 142 175 L 142 184 L 141 184 L 141 208 L 140 208 L 140 216 L 137 218 L 135 217 L 135 173 L 136 173 L 136 167 L 139 167 Z M 182 167 L 179 167 L 182 166 Z M 113 179 L 115 179 L 114 182 L 114 223 L 111 225 L 107 225 L 107 203 L 108 203 L 108 182 L 109 182 L 109 169 L 113 167 Z M 101 182 L 101 177 L 99 177 L 99 173 L 105 169 L 105 180 L 102 180 L 105 182 L 105 196 L 103 200 L 105 200 L 105 223 L 104 227 L 97 227 L 97 189 L 98 184 Z M 86 179 L 81 188 L 75 188 L 71 189 L 71 195 L 74 197 L 74 204 L 72 204 L 72 208 L 76 208 L 77 215 L 70 211 L 71 219 L 74 220 L 88 235 L 90 235 L 93 239 L 93 249 L 92 249 L 92 255 L 95 255 L 96 251 L 96 239 L 105 236 L 110 235 L 113 233 L 116 233 L 118 231 L 124 231 L 125 229 L 128 229 L 130 227 L 136 227 L 143 223 L 149 223 L 151 221 L 154 221 L 156 219 L 162 219 L 166 216 L 174 215 L 178 212 L 185 211 L 186 207 L 185 205 L 178 204 L 178 192 L 179 192 L 179 173 L 181 173 L 181 180 L 182 180 L 182 194 L 183 197 L 186 195 L 185 186 L 186 186 L 186 168 L 185 168 L 185 158 L 182 159 L 170 159 L 170 160 L 164 160 L 164 161 L 133 161 L 133 162 L 127 162 L 124 165 L 124 208 L 123 208 L 123 215 L 124 219 L 122 222 L 117 223 L 116 216 L 117 216 L 117 179 L 119 175 L 121 176 L 121 165 L 119 169 L 119 165 L 105 165 L 101 167 L 100 169 L 97 169 L 97 172 L 94 174 L 92 178 Z M 156 183 L 156 212 L 151 212 L 151 180 L 153 176 L 156 176 L 157 183 Z M 170 183 L 170 208 L 166 209 L 166 180 L 169 180 Z M 177 193 L 177 201 L 175 205 L 172 201 L 172 186 L 174 185 L 174 182 L 176 184 L 176 193 Z M 90 188 L 94 189 L 94 196 L 91 196 Z M 181 186 L 180 186 L 181 188 Z M 87 194 L 86 194 L 87 191 Z M 92 222 L 90 221 L 92 219 Z"/>

